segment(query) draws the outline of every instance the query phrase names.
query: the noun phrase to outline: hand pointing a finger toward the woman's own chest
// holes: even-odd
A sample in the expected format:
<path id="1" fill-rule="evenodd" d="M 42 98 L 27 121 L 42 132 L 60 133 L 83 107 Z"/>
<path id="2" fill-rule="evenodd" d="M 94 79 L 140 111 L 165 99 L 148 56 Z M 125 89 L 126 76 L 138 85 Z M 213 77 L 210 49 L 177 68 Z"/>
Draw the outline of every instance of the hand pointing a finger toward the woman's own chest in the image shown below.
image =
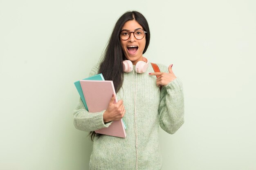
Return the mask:
<path id="1" fill-rule="evenodd" d="M 174 75 L 172 70 L 173 64 L 168 67 L 169 73 L 165 72 L 156 72 L 156 73 L 149 73 L 149 75 L 156 75 L 157 76 L 157 86 L 166 86 L 171 81 L 176 79 L 177 77 Z"/>

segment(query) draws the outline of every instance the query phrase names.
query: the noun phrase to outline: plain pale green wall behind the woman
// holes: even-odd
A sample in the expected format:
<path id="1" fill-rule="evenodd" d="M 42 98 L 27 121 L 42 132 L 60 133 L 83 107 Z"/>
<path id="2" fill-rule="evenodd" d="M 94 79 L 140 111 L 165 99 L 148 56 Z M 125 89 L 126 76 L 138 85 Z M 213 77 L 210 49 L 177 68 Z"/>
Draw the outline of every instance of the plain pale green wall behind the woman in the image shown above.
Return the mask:
<path id="1" fill-rule="evenodd" d="M 184 85 L 184 125 L 160 131 L 162 170 L 256 170 L 255 9 L 255 0 L 0 0 L 0 169 L 88 170 L 73 82 L 98 62 L 117 19 L 137 10 L 151 31 L 144 56 L 173 64 Z"/>

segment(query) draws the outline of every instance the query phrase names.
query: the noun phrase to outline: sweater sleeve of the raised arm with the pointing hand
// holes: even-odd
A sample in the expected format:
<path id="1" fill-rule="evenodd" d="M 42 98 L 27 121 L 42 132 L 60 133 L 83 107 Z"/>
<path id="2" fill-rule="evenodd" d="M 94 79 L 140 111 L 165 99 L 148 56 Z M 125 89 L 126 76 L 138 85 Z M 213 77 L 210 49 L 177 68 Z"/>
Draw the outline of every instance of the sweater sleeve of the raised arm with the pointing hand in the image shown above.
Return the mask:
<path id="1" fill-rule="evenodd" d="M 179 78 L 162 87 L 158 112 L 160 127 L 170 134 L 184 123 L 183 86 Z"/>

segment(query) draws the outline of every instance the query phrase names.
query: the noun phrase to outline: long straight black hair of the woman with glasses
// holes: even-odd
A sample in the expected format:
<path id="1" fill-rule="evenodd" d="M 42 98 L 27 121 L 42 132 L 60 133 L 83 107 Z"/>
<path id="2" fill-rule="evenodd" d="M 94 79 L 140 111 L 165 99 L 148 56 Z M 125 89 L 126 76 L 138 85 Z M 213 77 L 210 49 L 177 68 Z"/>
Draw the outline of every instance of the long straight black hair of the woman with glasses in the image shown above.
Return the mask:
<path id="1" fill-rule="evenodd" d="M 110 39 L 108 40 L 106 50 L 103 53 L 103 60 L 99 68 L 99 73 L 102 73 L 105 80 L 113 81 L 116 93 L 120 90 L 124 79 L 122 62 L 123 60 L 127 60 L 122 50 L 119 34 L 124 24 L 130 20 L 136 20 L 142 26 L 144 31 L 147 32 L 146 45 L 143 54 L 147 51 L 150 40 L 148 22 L 141 13 L 137 11 L 127 11 L 117 20 Z M 100 135 L 101 134 L 97 134 L 94 131 L 89 133 L 92 141 L 95 136 L 99 137 Z"/>

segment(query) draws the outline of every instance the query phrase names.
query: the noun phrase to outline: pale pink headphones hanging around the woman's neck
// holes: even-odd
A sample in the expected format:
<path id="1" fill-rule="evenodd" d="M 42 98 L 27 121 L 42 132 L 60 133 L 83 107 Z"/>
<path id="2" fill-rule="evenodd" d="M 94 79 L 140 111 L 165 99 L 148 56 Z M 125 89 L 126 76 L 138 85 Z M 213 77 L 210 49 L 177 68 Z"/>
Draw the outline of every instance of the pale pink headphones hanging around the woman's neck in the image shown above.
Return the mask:
<path id="1" fill-rule="evenodd" d="M 143 60 L 144 61 L 138 61 L 135 66 L 135 71 L 137 73 L 145 73 L 145 71 L 148 68 L 148 60 L 145 57 L 143 57 Z M 133 70 L 132 62 L 130 60 L 124 60 L 123 67 L 124 67 L 124 72 L 126 73 L 129 73 Z"/>

